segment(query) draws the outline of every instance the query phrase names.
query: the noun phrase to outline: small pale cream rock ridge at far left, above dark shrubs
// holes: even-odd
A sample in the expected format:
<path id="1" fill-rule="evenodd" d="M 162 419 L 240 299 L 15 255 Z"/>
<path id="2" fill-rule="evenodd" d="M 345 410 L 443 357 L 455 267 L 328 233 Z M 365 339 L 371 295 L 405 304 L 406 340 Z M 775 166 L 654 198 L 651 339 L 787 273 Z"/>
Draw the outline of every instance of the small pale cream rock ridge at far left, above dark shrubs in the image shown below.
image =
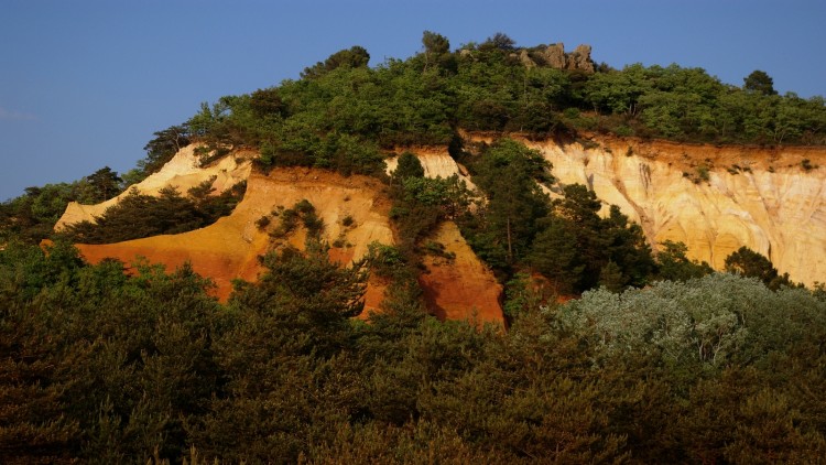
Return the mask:
<path id="1" fill-rule="evenodd" d="M 117 197 L 95 205 L 81 205 L 77 202 L 70 202 L 66 207 L 66 212 L 57 220 L 55 230 L 59 231 L 66 225 L 84 220 L 95 223 L 95 217 L 101 216 L 107 208 L 117 205 L 121 198 L 129 195 L 132 187 L 141 194 L 157 195 L 160 190 L 166 186 L 175 186 L 178 192 L 186 194 L 187 190 L 215 177 L 213 188 L 216 194 L 220 194 L 231 188 L 238 182 L 249 177 L 252 170 L 251 153 L 236 153 L 233 156 L 225 156 L 209 166 L 202 167 L 198 156 L 195 154 L 195 149 L 196 145 L 194 144 L 181 149 L 161 171 L 149 175 L 134 186 L 130 186 L 130 188 Z"/>

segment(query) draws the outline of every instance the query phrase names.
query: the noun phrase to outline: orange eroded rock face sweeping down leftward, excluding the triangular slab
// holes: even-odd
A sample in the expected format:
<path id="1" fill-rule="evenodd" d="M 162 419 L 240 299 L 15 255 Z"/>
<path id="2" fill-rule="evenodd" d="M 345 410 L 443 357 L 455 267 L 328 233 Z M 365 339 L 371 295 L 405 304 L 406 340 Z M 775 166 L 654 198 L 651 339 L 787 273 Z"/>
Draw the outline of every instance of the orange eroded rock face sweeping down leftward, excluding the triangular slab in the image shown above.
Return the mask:
<path id="1" fill-rule="evenodd" d="M 256 221 L 279 206 L 291 208 L 302 199 L 313 204 L 324 220 L 324 238 L 330 244 L 341 239 L 343 247 L 333 248 L 332 258 L 345 263 L 363 257 L 373 240 L 392 244 L 390 205 L 378 195 L 379 190 L 380 183 L 372 179 L 345 179 L 316 170 L 279 170 L 269 176 L 253 174 L 247 194 L 232 214 L 210 226 L 178 235 L 77 247 L 91 262 L 113 257 L 131 263 L 137 257 L 145 257 L 152 263 L 173 269 L 189 261 L 195 272 L 215 280 L 217 296 L 226 300 L 233 279 L 256 281 L 263 271 L 258 256 L 270 250 L 273 240 Z M 343 220 L 348 216 L 349 226 L 345 226 Z M 303 235 L 289 239 L 303 248 Z M 380 298 L 381 293 L 368 295 Z M 379 303 L 380 299 L 373 300 L 367 306 L 376 309 Z"/>

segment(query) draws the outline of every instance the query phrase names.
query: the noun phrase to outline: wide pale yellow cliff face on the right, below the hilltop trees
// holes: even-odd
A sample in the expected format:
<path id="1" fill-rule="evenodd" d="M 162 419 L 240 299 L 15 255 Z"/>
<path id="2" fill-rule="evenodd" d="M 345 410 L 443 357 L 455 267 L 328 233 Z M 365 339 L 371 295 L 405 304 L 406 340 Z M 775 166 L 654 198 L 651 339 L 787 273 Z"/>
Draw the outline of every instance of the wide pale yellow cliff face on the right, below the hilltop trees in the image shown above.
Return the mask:
<path id="1" fill-rule="evenodd" d="M 793 281 L 826 281 L 826 150 L 525 143 L 545 155 L 563 184 L 588 185 L 619 206 L 652 245 L 685 242 L 691 258 L 718 270 L 746 246 Z M 806 171 L 804 160 L 819 167 Z"/>

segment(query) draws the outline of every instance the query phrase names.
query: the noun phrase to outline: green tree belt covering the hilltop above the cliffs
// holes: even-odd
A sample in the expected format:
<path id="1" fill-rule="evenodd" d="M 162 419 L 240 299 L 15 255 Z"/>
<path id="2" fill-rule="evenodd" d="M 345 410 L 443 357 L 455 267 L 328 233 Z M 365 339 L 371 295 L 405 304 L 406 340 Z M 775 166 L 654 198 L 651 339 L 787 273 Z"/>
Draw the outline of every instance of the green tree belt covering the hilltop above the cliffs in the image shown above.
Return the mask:
<path id="1" fill-rule="evenodd" d="M 207 144 L 209 153 L 257 148 L 264 169 L 303 165 L 379 176 L 382 150 L 453 147 L 463 129 L 532 137 L 601 131 L 689 142 L 826 143 L 824 98 L 778 95 L 764 72 L 754 71 L 741 87 L 678 65 L 615 69 L 601 64 L 587 74 L 547 66 L 542 48 L 519 47 L 501 33 L 452 48 L 447 37 L 425 31 L 421 53 L 371 68 L 369 53 L 356 45 L 307 67 L 301 79 L 203 104 L 187 121 L 154 133 L 144 148 L 146 158 L 119 176 L 119 188 L 160 170 L 193 141 Z M 519 60 L 523 52 L 539 66 L 524 65 Z M 100 174 L 107 181 L 107 173 Z M 109 181 L 117 180 L 117 173 L 110 174 L 115 177 Z M 31 203 L 61 210 L 69 201 L 96 203 L 116 191 L 105 183 L 101 192 L 86 193 L 76 184 L 32 187 L 2 204 L 3 235 L 47 236 L 57 218 L 43 205 L 31 212 Z M 36 190 L 59 193 L 39 199 Z"/>

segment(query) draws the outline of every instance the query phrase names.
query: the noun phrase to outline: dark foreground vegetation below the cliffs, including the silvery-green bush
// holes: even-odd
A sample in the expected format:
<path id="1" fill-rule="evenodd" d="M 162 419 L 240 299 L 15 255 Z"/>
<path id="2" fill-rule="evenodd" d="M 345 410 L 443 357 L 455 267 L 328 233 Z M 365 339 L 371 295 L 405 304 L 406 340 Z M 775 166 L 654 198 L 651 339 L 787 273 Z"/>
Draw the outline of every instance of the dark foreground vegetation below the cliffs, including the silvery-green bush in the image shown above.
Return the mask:
<path id="1" fill-rule="evenodd" d="M 383 250 L 393 267 L 392 250 Z M 365 263 L 286 248 L 225 305 L 187 267 L 0 251 L 3 463 L 807 463 L 826 453 L 826 301 L 711 274 L 426 316 Z"/>

